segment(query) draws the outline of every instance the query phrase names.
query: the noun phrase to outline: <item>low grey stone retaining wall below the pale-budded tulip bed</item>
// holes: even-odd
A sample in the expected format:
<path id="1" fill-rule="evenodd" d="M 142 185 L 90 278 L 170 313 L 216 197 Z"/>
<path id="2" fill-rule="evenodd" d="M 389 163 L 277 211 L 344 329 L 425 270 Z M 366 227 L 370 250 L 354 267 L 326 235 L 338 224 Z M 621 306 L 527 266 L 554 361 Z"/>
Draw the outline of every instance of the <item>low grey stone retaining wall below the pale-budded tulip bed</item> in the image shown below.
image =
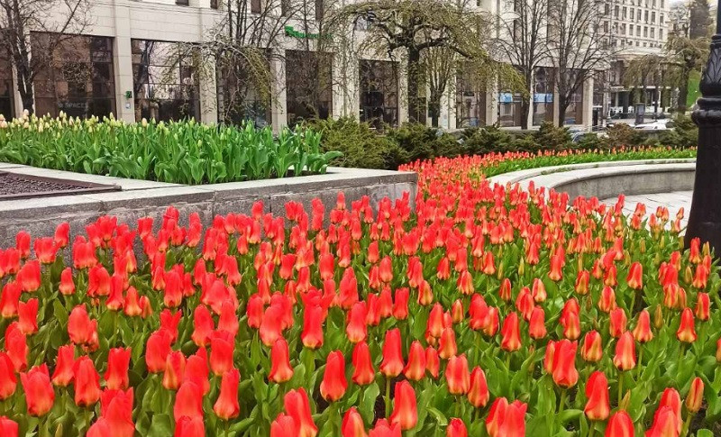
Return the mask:
<path id="1" fill-rule="evenodd" d="M 173 205 L 181 217 L 196 212 L 209 225 L 216 214 L 250 213 L 251 205 L 258 200 L 265 203 L 266 211 L 281 215 L 285 214 L 284 205 L 289 200 L 302 202 L 310 212 L 315 197 L 324 202 L 326 211 L 330 210 L 339 191 L 345 193 L 349 206 L 362 196 L 370 196 L 375 205 L 383 197 L 401 198 L 404 192 L 410 194 L 413 202 L 417 184 L 415 173 L 360 168 L 329 168 L 325 175 L 193 187 L 15 164 L 0 163 L 0 170 L 122 187 L 122 191 L 116 192 L 0 201 L 0 248 L 14 245 L 14 236 L 20 230 L 33 236 L 50 236 L 58 223 L 68 222 L 75 234 L 104 214 L 134 224 L 147 215 L 160 219 L 165 209 Z"/>

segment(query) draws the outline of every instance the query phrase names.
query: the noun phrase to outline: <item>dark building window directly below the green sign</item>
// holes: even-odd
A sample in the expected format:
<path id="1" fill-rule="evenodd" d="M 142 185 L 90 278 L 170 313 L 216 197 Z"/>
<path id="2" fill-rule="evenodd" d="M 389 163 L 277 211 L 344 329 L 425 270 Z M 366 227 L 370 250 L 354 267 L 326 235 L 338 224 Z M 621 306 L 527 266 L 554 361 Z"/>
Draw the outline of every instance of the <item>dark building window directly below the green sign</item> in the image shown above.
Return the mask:
<path id="1" fill-rule="evenodd" d="M 286 50 L 287 122 L 328 118 L 333 114 L 333 55 Z"/>

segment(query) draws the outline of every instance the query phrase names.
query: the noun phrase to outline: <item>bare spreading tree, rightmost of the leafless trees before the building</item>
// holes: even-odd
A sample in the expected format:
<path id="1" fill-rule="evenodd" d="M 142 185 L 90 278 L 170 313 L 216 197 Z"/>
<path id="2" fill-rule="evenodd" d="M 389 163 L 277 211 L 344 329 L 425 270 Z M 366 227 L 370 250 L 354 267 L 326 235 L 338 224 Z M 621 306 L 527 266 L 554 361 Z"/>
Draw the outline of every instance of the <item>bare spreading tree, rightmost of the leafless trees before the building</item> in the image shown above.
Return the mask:
<path id="1" fill-rule="evenodd" d="M 558 89 L 559 125 L 573 96 L 596 71 L 608 68 L 613 55 L 603 29 L 601 3 L 595 0 L 551 0 L 548 8 L 549 51 Z"/>

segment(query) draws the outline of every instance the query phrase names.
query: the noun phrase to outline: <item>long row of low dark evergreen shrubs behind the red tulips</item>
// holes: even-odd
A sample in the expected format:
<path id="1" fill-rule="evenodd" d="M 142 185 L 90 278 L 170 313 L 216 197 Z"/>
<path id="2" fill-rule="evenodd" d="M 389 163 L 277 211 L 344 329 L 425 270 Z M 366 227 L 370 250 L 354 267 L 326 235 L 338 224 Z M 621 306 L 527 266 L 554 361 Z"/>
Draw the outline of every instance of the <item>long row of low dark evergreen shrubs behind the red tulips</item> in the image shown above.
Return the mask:
<path id="1" fill-rule="evenodd" d="M 322 133 L 324 150 L 340 150 L 342 158 L 334 165 L 360 168 L 396 169 L 418 159 L 453 158 L 461 155 L 484 155 L 490 152 L 561 150 L 612 150 L 621 146 L 665 146 L 687 149 L 696 146 L 698 130 L 689 117 L 677 117 L 674 130 L 665 132 L 637 131 L 618 123 L 603 135 L 588 133 L 579 141 L 571 140 L 567 128 L 543 123 L 533 132 L 515 132 L 497 125 L 445 132 L 418 123 L 377 131 L 368 123 L 351 118 L 309 122 L 308 126 Z"/>

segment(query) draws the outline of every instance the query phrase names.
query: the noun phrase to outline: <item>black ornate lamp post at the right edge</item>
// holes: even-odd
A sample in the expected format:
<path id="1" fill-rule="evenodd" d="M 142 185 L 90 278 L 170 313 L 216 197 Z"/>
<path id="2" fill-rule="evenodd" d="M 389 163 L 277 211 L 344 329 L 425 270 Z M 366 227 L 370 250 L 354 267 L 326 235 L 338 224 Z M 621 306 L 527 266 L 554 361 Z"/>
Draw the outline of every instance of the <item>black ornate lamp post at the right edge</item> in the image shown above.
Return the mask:
<path id="1" fill-rule="evenodd" d="M 698 125 L 696 180 L 686 230 L 686 247 L 694 237 L 708 241 L 721 257 L 721 5 L 716 6 L 716 35 L 701 77 L 698 109 L 691 114 Z"/>

